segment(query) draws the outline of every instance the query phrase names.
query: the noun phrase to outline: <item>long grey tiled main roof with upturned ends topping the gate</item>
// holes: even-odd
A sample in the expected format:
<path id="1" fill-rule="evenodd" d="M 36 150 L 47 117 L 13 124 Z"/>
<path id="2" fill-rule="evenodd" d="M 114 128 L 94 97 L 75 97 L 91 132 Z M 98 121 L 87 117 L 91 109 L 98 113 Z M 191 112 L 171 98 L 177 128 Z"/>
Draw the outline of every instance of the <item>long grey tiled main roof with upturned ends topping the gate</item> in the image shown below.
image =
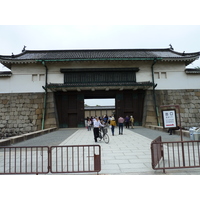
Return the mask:
<path id="1" fill-rule="evenodd" d="M 90 49 L 90 50 L 25 50 L 11 55 L 0 55 L 0 62 L 38 62 L 38 61 L 78 61 L 78 60 L 185 60 L 194 61 L 200 55 L 196 53 L 179 53 L 167 49 Z"/>

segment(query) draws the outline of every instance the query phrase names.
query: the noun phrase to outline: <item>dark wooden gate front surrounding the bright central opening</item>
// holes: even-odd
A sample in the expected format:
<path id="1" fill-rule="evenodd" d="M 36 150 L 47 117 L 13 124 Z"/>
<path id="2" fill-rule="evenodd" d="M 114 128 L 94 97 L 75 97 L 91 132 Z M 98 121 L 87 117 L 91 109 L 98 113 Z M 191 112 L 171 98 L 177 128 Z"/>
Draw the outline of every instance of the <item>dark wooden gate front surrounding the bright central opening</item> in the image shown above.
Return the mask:
<path id="1" fill-rule="evenodd" d="M 98 90 L 55 92 L 60 128 L 85 127 L 84 99 L 114 98 L 115 117 L 133 116 L 142 125 L 145 90 Z"/>

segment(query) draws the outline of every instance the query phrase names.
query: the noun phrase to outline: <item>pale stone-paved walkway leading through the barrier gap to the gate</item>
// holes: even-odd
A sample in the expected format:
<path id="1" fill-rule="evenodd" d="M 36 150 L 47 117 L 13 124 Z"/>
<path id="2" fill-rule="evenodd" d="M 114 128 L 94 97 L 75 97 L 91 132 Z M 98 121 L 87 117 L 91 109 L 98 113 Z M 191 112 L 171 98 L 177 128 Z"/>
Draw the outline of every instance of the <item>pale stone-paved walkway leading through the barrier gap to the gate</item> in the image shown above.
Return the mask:
<path id="1" fill-rule="evenodd" d="M 109 144 L 104 141 L 95 143 L 93 132 L 86 128 L 78 129 L 73 135 L 68 137 L 60 145 L 88 145 L 99 144 L 101 146 L 102 170 L 99 174 L 137 174 L 137 175 L 163 175 L 162 170 L 153 170 L 151 167 L 150 144 L 153 139 L 162 136 L 163 141 L 180 141 L 180 136 L 169 135 L 162 131 L 135 127 L 135 129 L 125 129 L 123 135 L 118 135 L 118 129 L 115 130 L 115 136 L 110 136 Z M 189 140 L 185 138 L 184 140 Z M 166 174 L 171 175 L 197 175 L 200 174 L 199 168 L 193 169 L 170 169 Z"/>

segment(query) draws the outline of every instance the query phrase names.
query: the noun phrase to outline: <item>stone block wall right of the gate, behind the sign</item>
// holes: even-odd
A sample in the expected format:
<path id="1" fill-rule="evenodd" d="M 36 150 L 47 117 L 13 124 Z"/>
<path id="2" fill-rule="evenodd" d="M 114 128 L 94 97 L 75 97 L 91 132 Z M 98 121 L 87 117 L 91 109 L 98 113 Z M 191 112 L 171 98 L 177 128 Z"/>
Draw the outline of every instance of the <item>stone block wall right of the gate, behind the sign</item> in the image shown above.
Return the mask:
<path id="1" fill-rule="evenodd" d="M 159 121 L 162 125 L 160 105 L 179 105 L 182 127 L 200 126 L 200 90 L 156 90 Z M 152 91 L 145 99 L 145 125 L 157 125 Z"/>

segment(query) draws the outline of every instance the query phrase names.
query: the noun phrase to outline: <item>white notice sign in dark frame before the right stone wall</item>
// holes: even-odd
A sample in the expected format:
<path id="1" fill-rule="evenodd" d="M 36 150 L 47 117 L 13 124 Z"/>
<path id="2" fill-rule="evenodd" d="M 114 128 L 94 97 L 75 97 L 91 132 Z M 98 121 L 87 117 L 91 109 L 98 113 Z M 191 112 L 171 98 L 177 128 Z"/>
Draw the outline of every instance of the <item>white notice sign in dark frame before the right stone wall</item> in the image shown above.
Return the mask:
<path id="1" fill-rule="evenodd" d="M 164 128 L 176 128 L 177 127 L 177 118 L 176 110 L 162 110 L 163 118 L 163 127 Z"/>

